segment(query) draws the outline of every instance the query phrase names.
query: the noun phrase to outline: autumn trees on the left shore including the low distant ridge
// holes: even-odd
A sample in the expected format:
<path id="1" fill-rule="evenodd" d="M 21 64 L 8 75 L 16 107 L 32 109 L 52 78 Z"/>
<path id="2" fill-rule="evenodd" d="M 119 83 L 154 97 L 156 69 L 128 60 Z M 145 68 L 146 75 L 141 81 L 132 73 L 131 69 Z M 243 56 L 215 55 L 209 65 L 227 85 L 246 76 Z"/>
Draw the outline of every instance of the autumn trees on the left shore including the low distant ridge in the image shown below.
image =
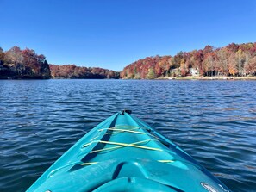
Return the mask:
<path id="1" fill-rule="evenodd" d="M 119 72 L 99 67 L 49 65 L 42 54 L 18 46 L 0 47 L 0 79 L 6 78 L 119 78 Z"/>

